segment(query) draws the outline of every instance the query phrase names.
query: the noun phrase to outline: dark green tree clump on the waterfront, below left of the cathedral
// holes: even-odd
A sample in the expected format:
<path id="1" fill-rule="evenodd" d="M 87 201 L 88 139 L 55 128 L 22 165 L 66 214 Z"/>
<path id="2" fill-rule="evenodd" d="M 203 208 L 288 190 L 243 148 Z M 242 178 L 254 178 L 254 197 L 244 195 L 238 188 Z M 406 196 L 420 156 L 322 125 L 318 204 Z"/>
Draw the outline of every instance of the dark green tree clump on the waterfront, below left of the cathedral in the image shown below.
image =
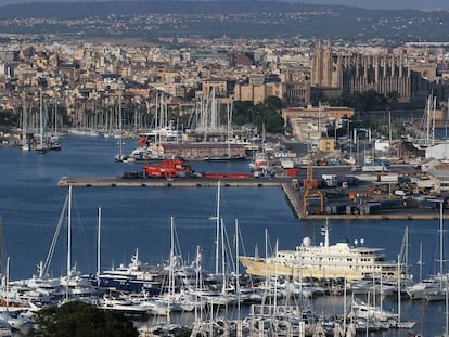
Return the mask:
<path id="1" fill-rule="evenodd" d="M 281 133 L 284 128 L 281 109 L 282 102 L 277 96 L 269 96 L 256 105 L 249 101 L 235 101 L 233 122 L 239 126 L 252 124 L 259 128 L 265 125 L 267 132 Z"/>

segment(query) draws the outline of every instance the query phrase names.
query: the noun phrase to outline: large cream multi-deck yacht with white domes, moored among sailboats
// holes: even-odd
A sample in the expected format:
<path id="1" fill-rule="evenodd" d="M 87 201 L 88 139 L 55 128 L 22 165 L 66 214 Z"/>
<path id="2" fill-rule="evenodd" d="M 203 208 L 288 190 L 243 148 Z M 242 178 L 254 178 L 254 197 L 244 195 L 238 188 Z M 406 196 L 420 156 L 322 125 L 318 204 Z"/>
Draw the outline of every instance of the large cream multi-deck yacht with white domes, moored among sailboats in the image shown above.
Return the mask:
<path id="1" fill-rule="evenodd" d="M 372 275 L 398 277 L 397 264 L 385 260 L 383 248 L 351 246 L 347 239 L 330 245 L 329 231 L 326 223 L 321 233 L 324 242 L 318 246 L 305 237 L 294 250 L 275 250 L 273 256 L 265 258 L 241 256 L 240 261 L 246 273 L 261 277 L 346 278 L 349 282 Z"/>

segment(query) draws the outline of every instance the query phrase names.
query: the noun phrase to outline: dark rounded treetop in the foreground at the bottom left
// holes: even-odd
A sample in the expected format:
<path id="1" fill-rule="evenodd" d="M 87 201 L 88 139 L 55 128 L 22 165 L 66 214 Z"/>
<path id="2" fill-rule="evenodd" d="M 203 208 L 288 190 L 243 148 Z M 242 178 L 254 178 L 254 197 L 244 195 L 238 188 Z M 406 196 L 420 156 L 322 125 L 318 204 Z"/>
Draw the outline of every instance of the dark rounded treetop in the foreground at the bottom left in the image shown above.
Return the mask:
<path id="1" fill-rule="evenodd" d="M 81 301 L 49 307 L 37 312 L 31 337 L 137 337 L 138 332 L 123 314 L 103 311 Z"/>

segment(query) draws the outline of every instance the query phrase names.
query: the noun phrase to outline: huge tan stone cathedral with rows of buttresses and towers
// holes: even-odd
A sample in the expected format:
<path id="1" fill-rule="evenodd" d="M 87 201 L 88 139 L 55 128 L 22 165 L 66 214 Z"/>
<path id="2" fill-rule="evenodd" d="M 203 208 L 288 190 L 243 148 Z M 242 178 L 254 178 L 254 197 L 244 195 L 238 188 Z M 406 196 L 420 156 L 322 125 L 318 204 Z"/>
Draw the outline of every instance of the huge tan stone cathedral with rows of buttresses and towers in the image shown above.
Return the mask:
<path id="1" fill-rule="evenodd" d="M 420 74 L 408 66 L 402 55 L 335 54 L 331 43 L 317 41 L 312 60 L 311 87 L 324 95 L 352 94 L 370 89 L 386 95 L 396 91 L 409 102 L 419 91 Z"/>

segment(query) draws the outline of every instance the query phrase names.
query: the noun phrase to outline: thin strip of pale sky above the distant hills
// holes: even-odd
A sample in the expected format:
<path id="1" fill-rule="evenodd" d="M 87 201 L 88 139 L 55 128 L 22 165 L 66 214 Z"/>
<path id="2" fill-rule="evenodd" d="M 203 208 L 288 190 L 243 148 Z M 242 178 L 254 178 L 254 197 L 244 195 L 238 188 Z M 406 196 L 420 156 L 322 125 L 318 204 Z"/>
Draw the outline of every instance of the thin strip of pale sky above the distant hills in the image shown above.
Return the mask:
<path id="1" fill-rule="evenodd" d="M 27 2 L 87 2 L 105 0 L 0 0 L 0 5 Z M 121 0 L 126 1 L 126 0 Z M 242 0 L 244 1 L 244 0 Z M 270 0 L 268 0 L 270 1 Z M 282 0 L 281 0 L 282 1 Z M 286 0 L 316 4 L 346 4 L 365 9 L 449 9 L 449 0 Z"/>

